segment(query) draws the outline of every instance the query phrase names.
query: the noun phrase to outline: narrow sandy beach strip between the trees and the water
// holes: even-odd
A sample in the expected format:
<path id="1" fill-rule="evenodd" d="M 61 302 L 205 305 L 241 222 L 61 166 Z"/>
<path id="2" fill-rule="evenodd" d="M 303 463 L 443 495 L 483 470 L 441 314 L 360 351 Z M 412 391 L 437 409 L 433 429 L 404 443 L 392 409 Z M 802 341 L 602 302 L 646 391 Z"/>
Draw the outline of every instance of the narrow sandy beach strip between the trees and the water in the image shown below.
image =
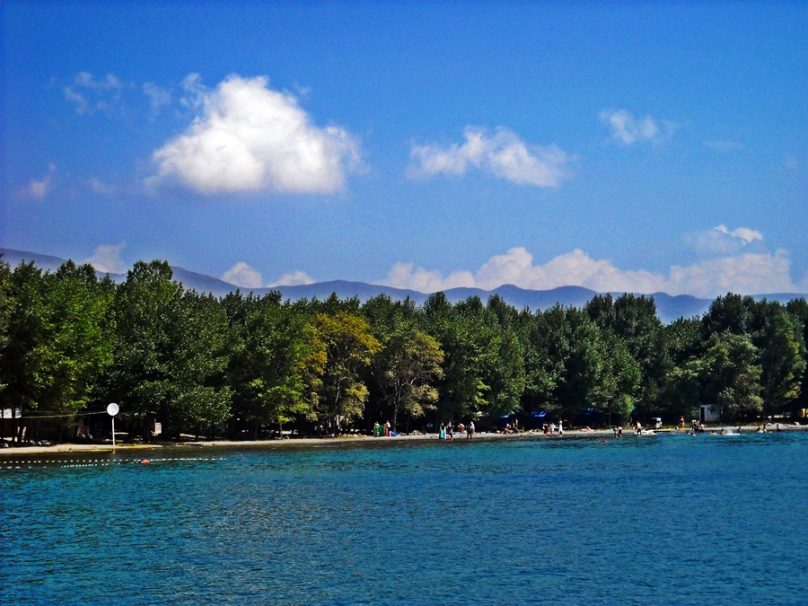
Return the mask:
<path id="1" fill-rule="evenodd" d="M 772 427 L 768 429 L 767 433 L 777 433 L 785 431 L 808 431 L 808 425 L 798 424 L 779 424 L 779 430 L 776 429 L 777 423 L 767 424 Z M 732 426 L 711 426 L 705 427 L 704 433 L 716 434 L 721 429 L 736 429 L 738 425 Z M 758 433 L 760 425 L 741 425 L 742 433 Z M 676 431 L 673 428 L 663 428 L 655 430 L 653 433 L 649 432 L 646 436 L 651 437 L 656 434 L 684 434 L 687 431 Z M 635 437 L 634 431 L 631 429 L 623 430 L 623 438 Z M 642 436 L 639 436 L 642 437 Z M 569 429 L 565 430 L 563 435 L 545 435 L 541 431 L 525 431 L 517 434 L 502 434 L 502 433 L 476 433 L 473 438 L 467 439 L 465 435 L 458 435 L 454 439 L 439 440 L 438 434 L 409 434 L 399 435 L 396 437 L 373 437 L 366 435 L 359 436 L 344 436 L 339 438 L 286 438 L 275 440 L 199 440 L 188 442 L 156 442 L 156 443 L 136 443 L 136 444 L 120 444 L 112 447 L 112 443 L 97 443 L 97 444 L 74 444 L 65 442 L 62 444 L 53 444 L 51 446 L 9 446 L 0 448 L 0 459 L 8 456 L 25 456 L 25 455 L 62 455 L 62 454 L 82 454 L 82 453 L 99 453 L 99 452 L 138 452 L 138 451 L 161 451 L 161 450 L 207 450 L 207 449 L 230 449 L 238 450 L 244 449 L 272 449 L 272 448 L 305 448 L 305 447 L 335 447 L 335 446 L 359 446 L 363 444 L 395 444 L 399 442 L 471 442 L 471 441 L 497 441 L 497 440 L 565 440 L 565 439 L 581 439 L 581 438 L 600 438 L 600 439 L 615 439 L 611 429 Z"/>

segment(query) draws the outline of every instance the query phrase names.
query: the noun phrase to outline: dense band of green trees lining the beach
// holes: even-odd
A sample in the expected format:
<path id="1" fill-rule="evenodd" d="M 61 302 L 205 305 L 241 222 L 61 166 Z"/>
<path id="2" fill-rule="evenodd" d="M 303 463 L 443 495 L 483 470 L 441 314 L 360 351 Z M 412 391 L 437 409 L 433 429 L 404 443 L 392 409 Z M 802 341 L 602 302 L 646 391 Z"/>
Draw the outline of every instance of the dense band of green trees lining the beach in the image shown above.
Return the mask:
<path id="1" fill-rule="evenodd" d="M 648 296 L 515 309 L 498 296 L 422 306 L 379 296 L 289 302 L 185 290 L 168 263 L 121 283 L 89 265 L 0 260 L 0 408 L 15 441 L 258 439 L 401 432 L 517 416 L 672 424 L 717 404 L 726 422 L 808 408 L 808 303 L 726 294 L 663 324 Z M 156 425 L 159 424 L 159 425 Z"/>

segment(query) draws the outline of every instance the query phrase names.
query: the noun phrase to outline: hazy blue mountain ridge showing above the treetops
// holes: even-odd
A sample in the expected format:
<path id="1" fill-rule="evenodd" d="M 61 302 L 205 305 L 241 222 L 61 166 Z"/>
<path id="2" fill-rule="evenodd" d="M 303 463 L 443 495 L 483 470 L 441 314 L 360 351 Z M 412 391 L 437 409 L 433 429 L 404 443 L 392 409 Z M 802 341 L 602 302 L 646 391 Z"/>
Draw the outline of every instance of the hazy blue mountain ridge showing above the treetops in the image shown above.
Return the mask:
<path id="1" fill-rule="evenodd" d="M 8 248 L 0 248 L 2 260 L 11 266 L 16 266 L 22 262 L 34 262 L 37 267 L 47 271 L 55 271 L 64 263 L 64 259 L 41 255 L 39 253 L 25 252 Z M 284 299 L 298 301 L 300 299 L 327 299 L 335 294 L 340 299 L 351 299 L 356 297 L 361 302 L 368 301 L 373 297 L 386 294 L 393 300 L 402 301 L 409 297 L 416 305 L 423 305 L 429 297 L 428 294 L 415 290 L 394 288 L 392 286 L 382 286 L 378 284 L 367 284 L 365 282 L 348 282 L 345 280 L 334 280 L 330 282 L 317 282 L 315 284 L 302 284 L 295 286 L 274 286 L 271 288 L 244 288 L 239 287 L 219 278 L 206 276 L 204 274 L 189 271 L 182 267 L 172 266 L 174 279 L 181 282 L 188 290 L 195 290 L 200 293 L 212 293 L 217 297 L 223 297 L 228 293 L 240 290 L 241 292 L 252 292 L 256 295 L 277 291 Z M 125 274 L 102 274 L 109 275 L 116 282 L 126 279 Z M 489 297 L 499 295 L 502 299 L 518 309 L 530 308 L 532 310 L 545 310 L 553 305 L 563 305 L 566 307 L 582 307 L 597 292 L 583 288 L 581 286 L 562 286 L 552 290 L 526 290 L 513 284 L 504 284 L 493 290 L 482 290 L 480 288 L 451 288 L 444 293 L 447 300 L 452 303 L 465 301 L 469 297 L 479 297 L 483 302 Z M 623 293 L 613 292 L 617 297 Z M 668 295 L 666 293 L 654 293 L 649 295 L 654 298 L 657 306 L 657 314 L 663 322 L 673 322 L 677 318 L 691 318 L 704 314 L 710 307 L 711 299 L 700 299 L 690 295 Z M 787 303 L 793 299 L 806 298 L 808 295 L 799 293 L 774 293 L 753 295 L 757 301 L 766 299 Z"/>

